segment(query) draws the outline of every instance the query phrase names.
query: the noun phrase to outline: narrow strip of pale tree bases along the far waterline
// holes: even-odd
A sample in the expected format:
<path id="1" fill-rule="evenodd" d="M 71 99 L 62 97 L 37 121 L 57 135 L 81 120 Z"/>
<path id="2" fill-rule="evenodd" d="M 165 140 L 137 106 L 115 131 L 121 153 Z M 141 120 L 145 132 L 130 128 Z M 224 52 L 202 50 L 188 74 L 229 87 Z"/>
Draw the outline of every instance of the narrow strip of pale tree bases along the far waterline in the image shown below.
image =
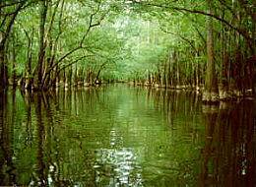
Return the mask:
<path id="1" fill-rule="evenodd" d="M 9 83 L 9 86 L 13 89 L 20 89 L 23 93 L 36 93 L 41 91 L 36 90 L 29 90 L 23 87 L 21 84 L 22 81 L 17 82 L 16 84 Z M 196 94 L 199 94 L 202 96 L 204 92 L 204 85 L 200 86 L 191 86 L 191 85 L 177 85 L 177 86 L 166 86 L 166 85 L 160 85 L 156 83 L 149 83 L 149 82 L 128 82 L 128 81 L 96 81 L 95 83 L 87 83 L 87 82 L 78 82 L 77 84 L 68 84 L 64 82 L 58 82 L 56 83 L 56 86 L 45 90 L 47 93 L 48 91 L 54 92 L 58 90 L 83 90 L 83 89 L 89 89 L 89 88 L 98 88 L 103 87 L 105 85 L 112 85 L 112 84 L 125 84 L 131 87 L 141 87 L 141 88 L 147 88 L 147 89 L 153 89 L 153 90 L 161 90 L 161 91 L 174 91 L 174 92 L 195 92 Z M 43 92 L 43 91 L 42 91 Z M 218 104 L 220 101 L 239 101 L 241 99 L 255 99 L 255 95 L 252 93 L 252 90 L 245 90 L 243 93 L 238 90 L 228 91 L 225 92 L 222 86 L 219 86 L 219 98 L 218 100 L 212 101 L 212 102 L 205 102 L 209 104 Z"/>

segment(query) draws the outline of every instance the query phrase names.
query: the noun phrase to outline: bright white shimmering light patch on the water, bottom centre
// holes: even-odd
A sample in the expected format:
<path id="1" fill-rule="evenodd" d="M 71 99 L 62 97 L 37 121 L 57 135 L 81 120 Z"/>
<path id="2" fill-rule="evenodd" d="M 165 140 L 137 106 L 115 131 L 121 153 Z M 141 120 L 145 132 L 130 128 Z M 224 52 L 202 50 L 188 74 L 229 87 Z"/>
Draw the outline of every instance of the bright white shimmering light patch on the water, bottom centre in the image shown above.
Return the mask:
<path id="1" fill-rule="evenodd" d="M 130 148 L 97 150 L 94 168 L 99 186 L 142 186 L 141 167 Z"/>

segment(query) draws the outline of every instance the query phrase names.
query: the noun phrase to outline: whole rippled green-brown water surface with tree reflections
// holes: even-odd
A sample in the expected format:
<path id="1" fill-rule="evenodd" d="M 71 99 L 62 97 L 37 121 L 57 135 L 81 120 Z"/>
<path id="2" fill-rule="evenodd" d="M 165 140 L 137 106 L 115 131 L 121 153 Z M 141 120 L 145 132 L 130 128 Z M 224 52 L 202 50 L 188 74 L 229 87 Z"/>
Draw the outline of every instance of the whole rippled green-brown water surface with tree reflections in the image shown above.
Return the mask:
<path id="1" fill-rule="evenodd" d="M 0 94 L 0 186 L 255 186 L 256 104 L 106 86 Z"/>

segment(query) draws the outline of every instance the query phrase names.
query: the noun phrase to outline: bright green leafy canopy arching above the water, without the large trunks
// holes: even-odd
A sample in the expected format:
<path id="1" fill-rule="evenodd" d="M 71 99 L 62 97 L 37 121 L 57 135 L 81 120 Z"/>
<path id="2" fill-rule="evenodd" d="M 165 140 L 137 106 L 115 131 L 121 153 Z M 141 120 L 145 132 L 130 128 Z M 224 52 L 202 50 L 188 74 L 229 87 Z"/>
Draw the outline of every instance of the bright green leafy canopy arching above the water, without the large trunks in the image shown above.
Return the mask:
<path id="1" fill-rule="evenodd" d="M 198 76 L 202 77 L 207 61 L 206 20 L 209 17 L 214 19 L 215 61 L 219 73 L 223 68 L 224 51 L 231 56 L 240 50 L 244 58 L 255 51 L 251 1 L 215 0 L 213 15 L 207 12 L 206 1 L 47 2 L 43 71 L 51 77 L 58 76 L 55 67 L 61 71 L 80 68 L 84 72 L 99 72 L 105 80 L 146 80 L 149 74 L 164 74 L 191 81 L 199 72 Z M 6 15 L 6 21 L 5 17 L 1 18 L 0 29 L 4 32 L 7 21 L 11 22 L 8 14 L 22 4 L 0 5 L 1 13 Z M 36 0 L 25 1 L 8 38 L 9 69 L 15 68 L 19 75 L 25 76 L 31 56 L 34 73 L 31 76 L 34 76 L 38 56 L 44 54 L 39 47 L 39 10 Z M 235 57 L 230 59 L 235 61 Z"/>

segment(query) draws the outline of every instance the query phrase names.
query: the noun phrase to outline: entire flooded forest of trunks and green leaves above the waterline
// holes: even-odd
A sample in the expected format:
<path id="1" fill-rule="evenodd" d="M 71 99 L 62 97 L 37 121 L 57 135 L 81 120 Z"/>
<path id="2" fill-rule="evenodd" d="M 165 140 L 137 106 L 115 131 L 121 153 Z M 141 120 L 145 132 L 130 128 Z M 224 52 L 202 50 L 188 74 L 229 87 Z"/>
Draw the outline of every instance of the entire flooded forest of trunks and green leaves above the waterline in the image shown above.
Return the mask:
<path id="1" fill-rule="evenodd" d="M 4 0 L 0 89 L 122 82 L 196 90 L 203 101 L 256 90 L 253 0 Z"/>

